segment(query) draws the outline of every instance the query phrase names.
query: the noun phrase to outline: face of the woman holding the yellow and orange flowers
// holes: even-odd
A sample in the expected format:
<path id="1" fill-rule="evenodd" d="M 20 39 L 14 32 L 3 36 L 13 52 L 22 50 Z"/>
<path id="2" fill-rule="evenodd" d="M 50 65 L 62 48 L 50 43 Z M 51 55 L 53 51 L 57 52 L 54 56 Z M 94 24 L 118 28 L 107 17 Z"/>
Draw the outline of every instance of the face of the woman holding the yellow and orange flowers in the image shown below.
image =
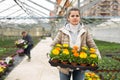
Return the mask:
<path id="1" fill-rule="evenodd" d="M 72 25 L 77 25 L 80 22 L 79 11 L 71 11 L 70 15 L 68 16 L 68 21 Z"/>

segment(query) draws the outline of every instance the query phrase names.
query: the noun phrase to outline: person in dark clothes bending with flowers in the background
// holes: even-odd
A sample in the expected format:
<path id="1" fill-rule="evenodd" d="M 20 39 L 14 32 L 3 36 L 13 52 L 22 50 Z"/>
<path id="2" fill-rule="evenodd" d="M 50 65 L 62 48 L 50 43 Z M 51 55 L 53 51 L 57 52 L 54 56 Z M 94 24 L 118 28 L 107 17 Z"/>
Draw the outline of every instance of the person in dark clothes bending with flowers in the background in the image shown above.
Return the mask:
<path id="1" fill-rule="evenodd" d="M 33 48 L 33 40 L 32 37 L 26 32 L 22 32 L 23 40 L 27 41 L 27 48 L 24 49 L 24 53 L 28 56 L 28 61 L 31 60 L 31 49 Z"/>

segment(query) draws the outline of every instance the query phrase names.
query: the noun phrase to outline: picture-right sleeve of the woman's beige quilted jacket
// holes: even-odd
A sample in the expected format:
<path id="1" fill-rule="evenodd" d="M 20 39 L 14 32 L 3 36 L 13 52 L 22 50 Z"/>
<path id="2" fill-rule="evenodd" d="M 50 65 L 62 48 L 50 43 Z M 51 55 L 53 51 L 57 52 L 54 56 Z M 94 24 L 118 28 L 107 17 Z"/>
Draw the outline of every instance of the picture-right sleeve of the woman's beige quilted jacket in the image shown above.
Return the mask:
<path id="1" fill-rule="evenodd" d="M 89 48 L 95 48 L 96 49 L 96 54 L 101 59 L 100 51 L 98 50 L 98 48 L 97 48 L 97 46 L 96 46 L 96 44 L 95 44 L 91 34 L 89 33 L 89 31 L 87 31 L 86 43 L 87 43 Z"/>

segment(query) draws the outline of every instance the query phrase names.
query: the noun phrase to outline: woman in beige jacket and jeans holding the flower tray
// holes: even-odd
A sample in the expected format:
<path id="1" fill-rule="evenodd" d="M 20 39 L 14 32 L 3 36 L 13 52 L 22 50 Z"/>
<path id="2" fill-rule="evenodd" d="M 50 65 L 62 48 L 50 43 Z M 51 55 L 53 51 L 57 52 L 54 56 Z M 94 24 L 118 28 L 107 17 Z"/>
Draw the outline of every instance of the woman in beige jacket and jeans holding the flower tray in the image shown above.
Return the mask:
<path id="1" fill-rule="evenodd" d="M 79 50 L 82 46 L 95 48 L 99 58 L 100 53 L 93 41 L 88 29 L 81 23 L 80 10 L 71 8 L 67 13 L 68 23 L 58 31 L 52 46 L 55 44 L 69 44 L 71 47 L 78 46 Z M 80 70 L 70 70 L 69 68 L 59 68 L 60 80 L 70 80 L 71 75 L 73 80 L 84 80 L 84 72 Z"/>

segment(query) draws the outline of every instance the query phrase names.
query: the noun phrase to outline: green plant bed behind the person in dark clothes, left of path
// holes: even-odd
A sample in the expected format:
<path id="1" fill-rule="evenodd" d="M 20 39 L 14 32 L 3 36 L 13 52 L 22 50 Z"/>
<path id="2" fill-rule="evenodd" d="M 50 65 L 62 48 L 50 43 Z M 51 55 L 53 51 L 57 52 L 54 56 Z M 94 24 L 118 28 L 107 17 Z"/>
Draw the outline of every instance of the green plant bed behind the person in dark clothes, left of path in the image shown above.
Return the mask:
<path id="1" fill-rule="evenodd" d="M 15 54 L 17 48 L 15 47 L 15 41 L 20 37 L 4 36 L 0 38 L 0 58 Z M 34 44 L 36 45 L 40 39 L 39 37 L 33 37 Z"/>

